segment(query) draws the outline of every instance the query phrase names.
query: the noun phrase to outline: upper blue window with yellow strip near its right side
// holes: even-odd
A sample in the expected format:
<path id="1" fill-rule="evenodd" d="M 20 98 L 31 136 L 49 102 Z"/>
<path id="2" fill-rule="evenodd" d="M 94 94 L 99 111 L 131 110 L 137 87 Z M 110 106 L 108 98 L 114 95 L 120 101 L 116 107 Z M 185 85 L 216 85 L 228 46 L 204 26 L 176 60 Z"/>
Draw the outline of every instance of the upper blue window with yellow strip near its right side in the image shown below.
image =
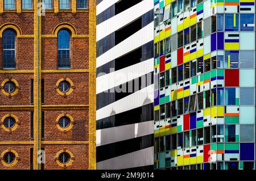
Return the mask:
<path id="1" fill-rule="evenodd" d="M 238 31 L 238 22 L 238 14 L 225 14 L 225 31 Z"/>

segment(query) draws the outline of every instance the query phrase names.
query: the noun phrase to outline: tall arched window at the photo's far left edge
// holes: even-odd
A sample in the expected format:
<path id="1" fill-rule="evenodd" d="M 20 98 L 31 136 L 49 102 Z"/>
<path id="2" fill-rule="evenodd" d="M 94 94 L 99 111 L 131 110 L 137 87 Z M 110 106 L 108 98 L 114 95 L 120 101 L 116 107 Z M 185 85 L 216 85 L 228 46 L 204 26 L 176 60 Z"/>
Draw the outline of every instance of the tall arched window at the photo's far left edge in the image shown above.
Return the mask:
<path id="1" fill-rule="evenodd" d="M 15 32 L 3 32 L 3 68 L 15 69 Z"/>

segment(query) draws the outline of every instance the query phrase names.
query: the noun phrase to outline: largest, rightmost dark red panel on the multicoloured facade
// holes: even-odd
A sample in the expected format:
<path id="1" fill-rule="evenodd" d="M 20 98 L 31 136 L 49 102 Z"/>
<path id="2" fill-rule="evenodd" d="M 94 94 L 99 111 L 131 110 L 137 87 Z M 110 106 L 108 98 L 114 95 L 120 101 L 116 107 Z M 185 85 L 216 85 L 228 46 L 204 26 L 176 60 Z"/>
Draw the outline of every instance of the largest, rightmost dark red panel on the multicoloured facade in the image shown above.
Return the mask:
<path id="1" fill-rule="evenodd" d="M 239 70 L 225 69 L 225 87 L 239 87 Z"/>

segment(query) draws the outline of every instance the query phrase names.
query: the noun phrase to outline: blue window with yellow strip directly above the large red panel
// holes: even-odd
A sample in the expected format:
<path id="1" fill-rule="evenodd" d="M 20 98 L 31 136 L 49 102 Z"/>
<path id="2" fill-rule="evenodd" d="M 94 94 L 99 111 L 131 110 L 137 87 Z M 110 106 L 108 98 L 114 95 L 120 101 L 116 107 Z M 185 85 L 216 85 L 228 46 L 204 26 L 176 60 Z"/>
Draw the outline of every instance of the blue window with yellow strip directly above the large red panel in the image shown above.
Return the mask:
<path id="1" fill-rule="evenodd" d="M 238 61 L 239 61 L 238 50 L 225 51 L 225 69 L 238 68 Z"/>

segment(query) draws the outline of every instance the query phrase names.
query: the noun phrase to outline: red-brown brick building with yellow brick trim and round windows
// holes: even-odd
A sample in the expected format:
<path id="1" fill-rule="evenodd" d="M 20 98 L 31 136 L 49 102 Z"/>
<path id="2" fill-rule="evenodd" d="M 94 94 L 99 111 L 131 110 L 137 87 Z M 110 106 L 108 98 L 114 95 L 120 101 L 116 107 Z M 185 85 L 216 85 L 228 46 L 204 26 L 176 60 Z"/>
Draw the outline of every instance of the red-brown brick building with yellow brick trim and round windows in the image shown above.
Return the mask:
<path id="1" fill-rule="evenodd" d="M 0 169 L 95 169 L 94 6 L 0 1 Z"/>

